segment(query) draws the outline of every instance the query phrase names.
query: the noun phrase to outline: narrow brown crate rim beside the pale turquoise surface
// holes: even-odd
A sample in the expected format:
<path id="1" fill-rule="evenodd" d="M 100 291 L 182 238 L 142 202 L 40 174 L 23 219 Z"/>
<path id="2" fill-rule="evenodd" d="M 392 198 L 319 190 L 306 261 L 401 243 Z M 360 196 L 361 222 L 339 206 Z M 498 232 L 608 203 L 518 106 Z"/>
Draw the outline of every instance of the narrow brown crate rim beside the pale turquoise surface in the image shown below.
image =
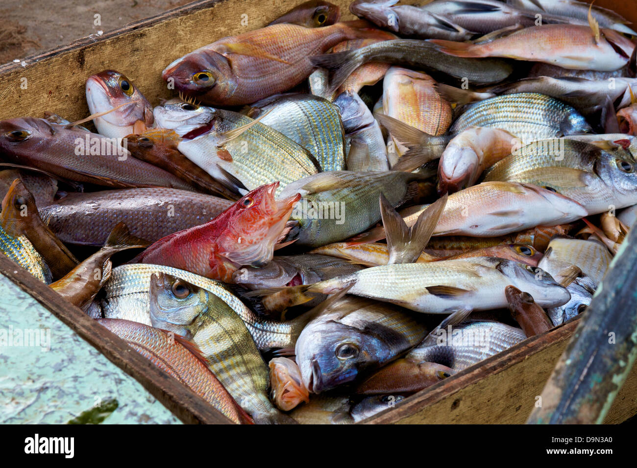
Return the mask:
<path id="1" fill-rule="evenodd" d="M 147 358 L 130 348 L 120 337 L 105 329 L 54 290 L 31 276 L 0 253 L 0 273 L 51 311 L 113 364 L 135 378 L 182 422 L 230 424 L 228 418 L 210 406 L 187 386 L 161 371 Z"/>

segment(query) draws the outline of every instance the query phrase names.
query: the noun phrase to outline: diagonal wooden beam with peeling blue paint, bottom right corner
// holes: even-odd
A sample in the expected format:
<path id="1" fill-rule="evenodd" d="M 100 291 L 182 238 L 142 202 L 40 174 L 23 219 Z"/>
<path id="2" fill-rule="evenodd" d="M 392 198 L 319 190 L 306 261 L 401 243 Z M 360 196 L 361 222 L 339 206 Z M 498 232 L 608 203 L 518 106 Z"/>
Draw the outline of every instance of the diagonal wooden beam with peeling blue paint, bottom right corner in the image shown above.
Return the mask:
<path id="1" fill-rule="evenodd" d="M 533 424 L 601 423 L 637 358 L 637 229 L 609 266 L 542 391 Z"/>

